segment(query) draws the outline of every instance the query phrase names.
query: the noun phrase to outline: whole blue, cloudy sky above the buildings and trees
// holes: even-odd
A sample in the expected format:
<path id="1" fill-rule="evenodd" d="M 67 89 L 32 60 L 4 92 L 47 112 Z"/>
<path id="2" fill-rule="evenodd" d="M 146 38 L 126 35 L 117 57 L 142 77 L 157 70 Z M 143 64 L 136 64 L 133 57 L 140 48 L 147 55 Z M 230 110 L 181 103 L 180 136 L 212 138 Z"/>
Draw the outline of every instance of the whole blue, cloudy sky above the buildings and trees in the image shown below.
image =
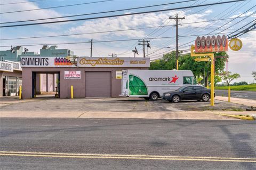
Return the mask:
<path id="1" fill-rule="evenodd" d="M 34 2 L 33 2 L 34 1 Z M 22 20 L 33 20 L 33 19 L 45 19 L 53 17 L 64 17 L 52 20 L 41 20 L 41 21 L 30 21 L 20 23 L 35 23 L 45 21 L 59 21 L 59 20 L 70 20 L 70 19 L 82 19 L 92 17 L 102 17 L 107 15 L 116 14 L 127 14 L 136 13 L 143 11 L 154 11 L 173 9 L 177 7 L 185 6 L 198 6 L 202 4 L 211 4 L 218 2 L 227 2 L 231 0 L 196 0 L 190 2 L 183 2 L 177 4 L 166 4 L 181 2 L 177 0 L 173 1 L 154 1 L 154 0 L 140 0 L 140 1 L 124 1 L 124 0 L 113 0 L 99 2 L 103 0 L 0 0 L 0 21 L 11 22 L 11 21 L 22 21 Z M 186 1 L 186 0 L 182 0 Z M 25 2 L 25 3 L 23 3 Z M 91 3 L 98 2 L 98 3 Z M 6 4 L 14 3 L 14 4 Z M 53 9 L 42 9 L 53 6 L 63 6 L 71 4 L 90 3 L 75 6 L 58 7 Z M 5 5 L 6 4 L 6 5 Z M 147 7 L 142 9 L 118 11 L 111 13 L 92 14 L 84 15 L 79 17 L 69 17 L 68 15 L 77 14 L 88 14 L 103 11 L 122 10 L 130 9 L 133 7 L 142 7 L 150 5 L 166 4 L 155 7 Z M 179 50 L 190 49 L 189 43 L 195 41 L 197 36 L 207 35 L 229 35 L 237 29 L 243 27 L 243 29 L 253 25 L 256 18 L 256 5 L 255 0 L 246 0 L 242 2 L 235 2 L 229 4 L 210 5 L 202 7 L 191 7 L 188 9 L 179 10 L 168 10 L 162 12 L 145 13 L 137 15 L 126 15 L 123 17 L 113 18 L 101 18 L 91 19 L 82 21 L 70 21 L 61 23 L 49 23 L 45 25 L 32 25 L 32 26 L 21 26 L 21 27 L 6 27 L 0 28 L 0 39 L 9 38 L 23 38 L 23 37 L 38 37 L 38 36 L 54 36 L 54 35 L 67 35 L 67 34 L 83 34 L 74 36 L 63 36 L 63 37 L 44 37 L 44 38 L 31 38 L 31 39 L 13 39 L 0 41 L 0 50 L 9 50 L 10 46 L 23 45 L 28 48 L 29 51 L 40 52 L 40 48 L 43 45 L 29 46 L 35 44 L 54 44 L 58 48 L 68 48 L 74 51 L 75 55 L 78 56 L 90 56 L 90 39 L 93 39 L 92 56 L 106 57 L 109 54 L 117 54 L 118 57 L 133 57 L 135 46 L 138 49 L 139 55 L 136 57 L 143 57 L 142 45 L 139 45 L 138 40 L 143 38 L 155 38 L 150 40 L 151 48 L 146 48 L 146 55 L 151 60 L 161 58 L 163 54 L 175 50 L 175 21 L 169 19 L 178 14 L 179 17 L 185 17 L 185 19 L 179 20 Z M 23 11 L 31 10 L 33 11 Z M 38 10 L 42 9 L 42 10 Z M 250 10 L 249 10 L 250 9 Z M 14 13 L 5 13 L 13 11 L 23 11 Z M 243 18 L 236 18 L 234 20 L 226 18 L 235 18 L 241 15 Z M 219 20 L 225 19 L 225 20 Z M 209 21 L 217 20 L 217 21 Z M 197 22 L 197 23 L 195 23 Z M 16 25 L 18 23 L 7 23 L 5 25 Z M 164 27 L 159 27 L 164 26 Z M 145 28 L 154 27 L 154 28 Z M 144 28 L 144 29 L 138 29 Z M 135 29 L 126 31 L 115 31 L 124 29 Z M 97 33 L 97 34 L 85 34 L 95 33 L 102 31 L 112 31 L 110 33 Z M 114 31 L 114 32 L 113 32 Z M 231 34 L 234 35 L 234 34 Z M 166 38 L 167 37 L 167 38 Z M 132 40 L 135 39 L 135 40 Z M 239 37 L 243 43 L 243 47 L 239 51 L 232 51 L 229 49 L 228 71 L 238 73 L 241 78 L 236 79 L 234 82 L 249 82 L 253 83 L 252 71 L 256 71 L 256 31 L 250 31 Z M 112 41 L 121 40 L 118 42 L 102 42 L 97 41 Z M 130 41 L 123 41 L 130 40 Z M 81 42 L 81 44 L 59 44 L 59 43 L 74 43 Z M 255 80 L 254 80 L 255 83 Z"/>

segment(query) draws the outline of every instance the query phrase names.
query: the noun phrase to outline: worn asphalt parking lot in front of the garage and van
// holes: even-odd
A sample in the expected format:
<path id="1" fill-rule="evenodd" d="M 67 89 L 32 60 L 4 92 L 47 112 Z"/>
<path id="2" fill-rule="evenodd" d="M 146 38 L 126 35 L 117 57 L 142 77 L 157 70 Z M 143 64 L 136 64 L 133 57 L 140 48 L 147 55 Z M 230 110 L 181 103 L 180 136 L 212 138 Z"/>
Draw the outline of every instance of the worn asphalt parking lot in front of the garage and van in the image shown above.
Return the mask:
<path id="1" fill-rule="evenodd" d="M 6 100 L 6 101 L 4 101 Z M 1 111 L 244 111 L 246 106 L 215 100 L 210 102 L 163 100 L 146 101 L 141 98 L 91 98 L 91 99 L 1 99 Z M 19 102 L 22 101 L 22 102 Z"/>

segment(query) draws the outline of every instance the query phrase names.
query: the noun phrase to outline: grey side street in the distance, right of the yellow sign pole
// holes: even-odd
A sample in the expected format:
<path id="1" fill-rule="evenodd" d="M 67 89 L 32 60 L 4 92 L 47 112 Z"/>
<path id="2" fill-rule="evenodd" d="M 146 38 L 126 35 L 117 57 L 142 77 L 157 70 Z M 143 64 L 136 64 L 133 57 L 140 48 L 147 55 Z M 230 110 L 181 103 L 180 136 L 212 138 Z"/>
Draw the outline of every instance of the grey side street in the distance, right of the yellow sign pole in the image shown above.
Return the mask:
<path id="1" fill-rule="evenodd" d="M 228 90 L 215 90 L 218 96 L 228 96 Z M 233 98 L 252 99 L 256 100 L 256 92 L 254 91 L 230 91 L 230 96 Z"/>

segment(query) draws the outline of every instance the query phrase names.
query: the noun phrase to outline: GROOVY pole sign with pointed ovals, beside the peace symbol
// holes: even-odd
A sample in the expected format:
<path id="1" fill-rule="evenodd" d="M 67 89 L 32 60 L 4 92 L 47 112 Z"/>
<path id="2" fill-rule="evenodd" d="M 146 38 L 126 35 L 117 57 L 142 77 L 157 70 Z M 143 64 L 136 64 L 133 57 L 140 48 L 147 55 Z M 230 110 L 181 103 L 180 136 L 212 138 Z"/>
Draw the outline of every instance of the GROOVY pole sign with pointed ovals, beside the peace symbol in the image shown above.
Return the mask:
<path id="1" fill-rule="evenodd" d="M 195 41 L 195 52 L 219 52 L 228 51 L 228 38 L 225 35 L 197 37 Z"/>

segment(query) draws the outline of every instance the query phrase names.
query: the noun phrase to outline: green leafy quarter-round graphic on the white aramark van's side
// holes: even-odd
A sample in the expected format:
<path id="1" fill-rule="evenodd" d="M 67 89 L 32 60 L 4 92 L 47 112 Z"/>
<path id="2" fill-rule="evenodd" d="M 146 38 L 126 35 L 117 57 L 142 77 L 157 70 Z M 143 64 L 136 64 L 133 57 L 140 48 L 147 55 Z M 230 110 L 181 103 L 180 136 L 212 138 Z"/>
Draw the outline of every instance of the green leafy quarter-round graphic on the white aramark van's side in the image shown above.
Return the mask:
<path id="1" fill-rule="evenodd" d="M 131 95 L 147 95 L 145 83 L 137 76 L 129 75 L 129 93 Z"/>

